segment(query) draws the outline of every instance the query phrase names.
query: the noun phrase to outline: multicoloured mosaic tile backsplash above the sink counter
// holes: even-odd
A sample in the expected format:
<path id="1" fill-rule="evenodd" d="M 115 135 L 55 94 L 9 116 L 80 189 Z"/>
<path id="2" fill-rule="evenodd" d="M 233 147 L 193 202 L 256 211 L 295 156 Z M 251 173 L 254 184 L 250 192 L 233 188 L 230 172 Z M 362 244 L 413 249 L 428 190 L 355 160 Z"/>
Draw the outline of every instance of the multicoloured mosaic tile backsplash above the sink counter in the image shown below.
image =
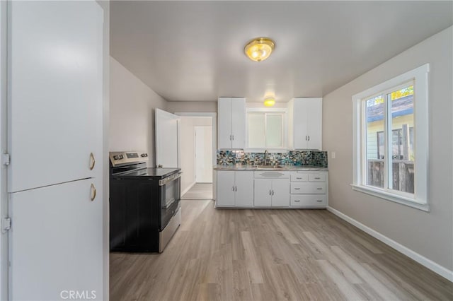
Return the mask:
<path id="1" fill-rule="evenodd" d="M 244 151 L 217 151 L 217 165 L 263 165 L 264 153 L 246 153 Z M 269 153 L 268 164 L 316 167 L 327 166 L 326 151 L 288 151 L 287 153 Z"/>

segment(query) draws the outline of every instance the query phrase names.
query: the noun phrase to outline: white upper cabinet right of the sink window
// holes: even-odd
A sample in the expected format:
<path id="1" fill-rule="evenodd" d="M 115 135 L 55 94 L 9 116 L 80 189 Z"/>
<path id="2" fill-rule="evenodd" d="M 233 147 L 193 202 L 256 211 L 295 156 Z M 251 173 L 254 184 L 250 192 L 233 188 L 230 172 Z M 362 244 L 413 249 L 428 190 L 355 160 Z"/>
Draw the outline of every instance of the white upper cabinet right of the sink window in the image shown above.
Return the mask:
<path id="1" fill-rule="evenodd" d="M 288 110 L 289 148 L 321 150 L 322 98 L 293 98 Z"/>

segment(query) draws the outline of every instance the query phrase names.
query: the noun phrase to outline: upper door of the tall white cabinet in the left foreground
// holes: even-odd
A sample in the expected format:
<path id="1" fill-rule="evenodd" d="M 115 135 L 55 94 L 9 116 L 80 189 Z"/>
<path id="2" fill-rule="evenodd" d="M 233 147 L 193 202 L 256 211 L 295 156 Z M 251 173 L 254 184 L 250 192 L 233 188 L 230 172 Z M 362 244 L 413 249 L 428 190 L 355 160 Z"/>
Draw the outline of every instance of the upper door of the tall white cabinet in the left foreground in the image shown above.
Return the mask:
<path id="1" fill-rule="evenodd" d="M 102 166 L 102 8 L 96 1 L 9 5 L 8 191 L 96 177 Z M 93 170 L 91 153 L 98 159 Z"/>

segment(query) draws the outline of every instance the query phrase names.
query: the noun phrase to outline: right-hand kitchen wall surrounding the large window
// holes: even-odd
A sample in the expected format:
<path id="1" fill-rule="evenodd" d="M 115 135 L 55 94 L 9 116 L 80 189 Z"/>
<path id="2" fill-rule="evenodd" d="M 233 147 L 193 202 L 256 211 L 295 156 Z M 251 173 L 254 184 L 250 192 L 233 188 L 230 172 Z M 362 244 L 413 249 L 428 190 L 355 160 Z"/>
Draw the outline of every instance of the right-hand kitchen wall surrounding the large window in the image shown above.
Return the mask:
<path id="1" fill-rule="evenodd" d="M 329 158 L 329 206 L 453 270 L 452 64 L 447 28 L 323 97 L 323 146 Z M 352 191 L 352 95 L 430 64 L 429 199 L 431 212 Z M 415 108 L 417 110 L 417 108 Z"/>

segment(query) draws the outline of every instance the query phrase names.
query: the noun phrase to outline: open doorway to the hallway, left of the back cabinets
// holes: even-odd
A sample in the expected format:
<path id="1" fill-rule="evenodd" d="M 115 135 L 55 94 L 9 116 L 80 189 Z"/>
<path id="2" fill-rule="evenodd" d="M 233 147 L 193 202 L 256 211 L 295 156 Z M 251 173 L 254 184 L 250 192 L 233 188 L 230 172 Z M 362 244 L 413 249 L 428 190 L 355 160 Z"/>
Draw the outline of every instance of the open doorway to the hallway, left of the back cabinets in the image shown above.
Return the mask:
<path id="1" fill-rule="evenodd" d="M 213 199 L 216 114 L 176 114 L 180 116 L 181 199 Z"/>

